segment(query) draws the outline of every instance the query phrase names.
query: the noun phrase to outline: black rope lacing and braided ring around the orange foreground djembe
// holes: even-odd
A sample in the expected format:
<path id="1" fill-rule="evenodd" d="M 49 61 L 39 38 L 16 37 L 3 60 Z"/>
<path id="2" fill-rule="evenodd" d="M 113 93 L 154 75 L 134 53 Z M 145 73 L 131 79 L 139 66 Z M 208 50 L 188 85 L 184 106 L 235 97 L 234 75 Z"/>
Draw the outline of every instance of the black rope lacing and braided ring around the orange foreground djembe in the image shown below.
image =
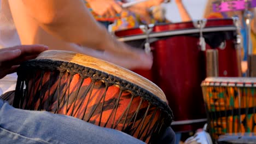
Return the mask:
<path id="1" fill-rule="evenodd" d="M 69 112 L 68 115 L 75 116 L 75 115 L 78 115 L 78 113 L 81 114 L 81 112 L 79 111 L 79 107 L 82 107 L 82 105 L 83 105 L 83 107 L 84 107 L 83 113 L 82 113 L 82 115 L 79 114 L 82 117 L 79 117 L 79 118 L 83 119 L 84 121 L 89 122 L 89 121 L 91 121 L 90 119 L 92 118 L 92 116 L 95 115 L 94 113 L 96 111 L 96 107 L 99 106 L 100 110 L 97 109 L 97 113 L 100 112 L 100 115 L 99 115 L 100 121 L 99 122 L 97 121 L 99 126 L 106 127 L 108 122 L 112 121 L 111 128 L 115 129 L 118 127 L 119 123 L 123 123 L 123 127 L 121 129 L 125 133 L 133 135 L 133 134 L 135 134 L 135 131 L 138 129 L 139 130 L 138 137 L 143 136 L 142 139 L 146 139 L 147 136 L 152 135 L 155 132 L 158 134 L 160 133 L 160 131 L 154 132 L 152 130 L 149 130 L 149 128 L 152 127 L 155 130 L 159 129 L 159 128 L 161 129 L 162 125 L 170 125 L 172 122 L 172 119 L 173 119 L 172 111 L 171 111 L 170 107 L 167 106 L 166 103 L 162 103 L 162 100 L 156 96 L 152 97 L 153 94 L 150 93 L 149 91 L 147 91 L 146 89 L 141 88 L 129 81 L 120 79 L 117 76 L 107 74 L 107 73 L 104 73 L 103 71 L 84 67 L 82 65 L 78 65 L 78 64 L 74 64 L 74 63 L 51 61 L 49 59 L 40 59 L 40 60 L 36 59 L 36 60 L 31 60 L 31 61 L 21 64 L 21 67 L 19 67 L 19 69 L 18 69 L 18 75 L 19 75 L 19 79 L 20 79 L 19 81 L 25 81 L 25 85 L 28 86 L 28 80 L 27 80 L 28 74 L 26 71 L 33 71 L 30 73 L 33 74 L 33 76 L 34 76 L 33 77 L 33 86 L 34 86 L 36 83 L 34 81 L 36 79 L 34 74 L 36 73 L 37 70 L 51 71 L 50 77 L 54 77 L 54 74 L 57 74 L 56 71 L 61 72 L 60 78 L 57 80 L 58 81 L 57 89 L 55 89 L 55 91 L 53 92 L 53 95 L 55 95 L 55 94 L 57 95 L 57 109 L 55 109 L 55 111 L 54 111 L 55 113 L 58 113 L 58 111 L 60 110 L 60 106 L 62 107 L 61 109 L 63 109 L 63 105 L 65 104 L 66 115 Z M 69 101 L 69 94 L 71 91 L 71 89 L 69 89 L 70 83 L 73 79 L 73 76 L 77 75 L 77 74 L 79 74 L 79 76 L 82 77 L 82 79 L 79 79 L 80 81 L 78 81 L 78 84 L 75 85 L 79 88 L 78 88 L 78 91 L 77 90 L 75 91 L 75 93 L 76 93 L 75 97 L 72 96 L 74 99 Z M 43 75 L 43 73 L 41 74 L 41 76 L 42 75 Z M 67 78 L 65 79 L 65 77 L 64 77 L 63 82 L 66 82 L 66 84 L 61 85 L 62 76 L 65 76 L 65 75 L 69 75 L 69 79 L 67 79 Z M 86 89 L 83 90 L 82 96 L 80 95 L 80 97 L 83 97 L 84 99 L 77 101 L 78 93 L 80 92 L 80 87 L 82 87 L 82 83 L 88 77 L 90 77 L 90 80 L 92 82 L 88 86 L 86 86 Z M 51 78 L 50 78 L 50 80 L 51 80 Z M 89 101 L 91 99 L 92 89 L 94 89 L 95 83 L 98 81 L 102 81 L 104 83 L 104 85 L 106 86 L 104 93 L 98 99 L 99 103 L 97 104 L 97 106 L 94 107 L 94 109 L 90 110 L 90 113 L 86 113 Z M 107 118 L 105 117 L 105 119 L 107 119 L 107 122 L 104 125 L 101 125 L 101 119 L 102 119 L 101 117 L 102 117 L 103 106 L 104 106 L 104 101 L 105 101 L 104 97 L 106 96 L 108 87 L 110 87 L 112 85 L 118 86 L 120 89 L 119 90 L 120 92 L 118 94 L 117 100 L 114 101 L 113 109 L 112 109 L 112 111 L 110 111 L 109 117 L 107 117 Z M 21 85 L 18 83 L 17 86 L 21 86 Z M 40 87 L 42 88 L 42 80 L 40 81 Z M 50 85 L 47 85 L 46 87 L 48 87 L 48 89 L 50 89 Z M 60 87 L 62 87 L 62 91 L 60 91 Z M 20 89 L 20 91 L 23 91 L 22 88 L 19 88 L 19 89 Z M 131 93 L 131 100 L 130 100 L 129 104 L 127 105 L 126 109 L 123 111 L 123 113 L 121 113 L 119 118 L 116 119 L 115 115 L 117 114 L 120 97 L 125 91 L 128 91 L 129 93 Z M 28 89 L 26 89 L 25 92 L 28 92 Z M 34 92 L 32 90 L 32 94 L 36 94 L 36 93 L 37 92 Z M 39 93 L 41 93 L 41 92 L 39 92 Z M 49 97 L 50 90 L 46 94 Z M 20 95 L 24 95 L 24 94 L 20 93 Z M 28 94 L 28 95 L 31 95 L 31 94 Z M 42 95 L 42 94 L 39 94 L 39 95 Z M 139 103 L 139 106 L 138 106 L 136 112 L 133 113 L 133 115 L 129 116 L 129 118 L 128 118 L 128 112 L 132 105 L 132 100 L 138 96 L 140 96 L 141 102 Z M 24 97 L 25 97 L 25 95 L 24 95 Z M 15 98 L 16 98 L 16 96 L 15 96 Z M 16 99 L 19 99 L 19 98 L 16 98 Z M 24 98 L 21 98 L 21 99 L 24 99 Z M 43 95 L 43 97 L 40 97 L 40 101 L 42 101 L 43 99 L 44 99 L 44 95 Z M 85 99 L 87 101 L 85 101 Z M 46 102 L 46 105 L 49 105 L 51 103 L 50 99 L 47 99 L 47 100 L 48 101 Z M 102 100 L 103 100 L 103 102 L 102 102 Z M 34 105 L 34 100 L 32 100 L 32 101 L 33 101 L 32 105 Z M 141 113 L 138 110 L 140 109 L 141 104 L 144 103 L 144 101 L 146 101 L 146 103 L 148 103 L 149 105 L 148 105 L 147 109 L 145 108 L 146 111 L 144 113 Z M 20 103 L 19 105 L 14 105 L 14 106 L 22 107 L 22 103 Z M 147 116 L 147 113 L 149 112 L 151 106 L 156 106 L 157 108 L 153 111 L 153 114 L 151 113 L 152 116 L 150 116 L 149 121 L 146 122 L 145 117 Z M 39 106 L 39 109 L 40 109 L 40 107 L 41 107 L 41 105 Z M 49 106 L 46 107 L 46 110 L 49 110 L 49 109 L 50 109 Z M 144 107 L 143 107 L 143 109 L 144 109 Z M 160 122 L 160 124 L 158 123 L 158 124 L 152 125 L 153 118 L 155 117 L 157 110 L 161 110 L 162 112 L 164 112 L 164 113 L 160 113 L 160 117 L 162 117 L 163 119 L 161 121 L 160 121 L 160 119 L 158 119 L 158 122 Z M 112 114 L 113 114 L 113 117 L 112 117 Z M 137 121 L 138 120 L 137 117 L 138 117 L 139 121 Z M 136 121 L 136 128 L 133 128 L 133 127 L 135 127 L 135 121 Z M 129 123 L 133 123 L 133 124 L 128 125 Z M 138 125 L 141 125 L 141 126 L 138 127 Z M 152 126 L 150 126 L 150 125 L 152 125 Z M 143 134 L 144 131 L 146 131 L 146 135 Z"/>

